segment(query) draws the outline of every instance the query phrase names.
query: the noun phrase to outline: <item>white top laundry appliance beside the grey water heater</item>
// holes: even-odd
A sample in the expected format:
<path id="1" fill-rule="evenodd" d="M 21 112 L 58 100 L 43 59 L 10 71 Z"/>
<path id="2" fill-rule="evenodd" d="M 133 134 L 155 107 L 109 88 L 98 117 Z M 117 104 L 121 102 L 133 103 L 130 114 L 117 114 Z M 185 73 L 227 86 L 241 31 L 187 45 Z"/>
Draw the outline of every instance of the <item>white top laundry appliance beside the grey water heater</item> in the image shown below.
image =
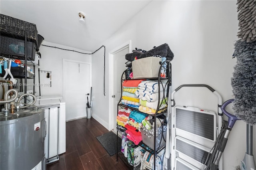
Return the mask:
<path id="1" fill-rule="evenodd" d="M 34 105 L 44 109 L 47 123 L 44 153 L 46 164 L 49 164 L 66 152 L 66 103 L 59 96 L 43 96 L 37 97 Z"/>

